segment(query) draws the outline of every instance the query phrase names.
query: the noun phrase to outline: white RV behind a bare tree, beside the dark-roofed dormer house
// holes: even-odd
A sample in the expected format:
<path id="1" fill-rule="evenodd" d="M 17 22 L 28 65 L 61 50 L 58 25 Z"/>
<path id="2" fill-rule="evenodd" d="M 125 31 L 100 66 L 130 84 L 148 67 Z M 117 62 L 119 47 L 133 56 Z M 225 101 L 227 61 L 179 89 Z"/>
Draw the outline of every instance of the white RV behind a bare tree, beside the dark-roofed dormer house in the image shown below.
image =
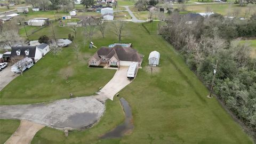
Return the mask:
<path id="1" fill-rule="evenodd" d="M 18 64 L 19 63 L 19 64 Z M 12 67 L 11 67 L 11 71 L 13 73 L 21 73 L 22 71 L 20 71 L 20 69 L 18 69 L 18 65 L 21 65 L 22 67 L 22 71 L 29 69 L 30 67 L 32 67 L 34 65 L 33 60 L 31 58 L 24 58 L 20 61 L 18 61 L 17 63 L 15 63 Z"/>

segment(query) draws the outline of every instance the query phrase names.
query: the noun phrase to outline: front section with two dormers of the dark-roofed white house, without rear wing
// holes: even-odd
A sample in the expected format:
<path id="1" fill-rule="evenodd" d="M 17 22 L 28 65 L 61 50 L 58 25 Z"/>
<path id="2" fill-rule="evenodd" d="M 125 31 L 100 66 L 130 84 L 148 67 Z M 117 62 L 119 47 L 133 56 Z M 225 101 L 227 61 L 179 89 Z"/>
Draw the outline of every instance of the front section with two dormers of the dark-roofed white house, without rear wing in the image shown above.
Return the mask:
<path id="1" fill-rule="evenodd" d="M 40 60 L 42 56 L 42 52 L 39 50 L 37 46 L 15 46 L 12 47 L 11 51 L 11 59 L 15 58 L 31 58 L 33 62 L 37 62 Z"/>

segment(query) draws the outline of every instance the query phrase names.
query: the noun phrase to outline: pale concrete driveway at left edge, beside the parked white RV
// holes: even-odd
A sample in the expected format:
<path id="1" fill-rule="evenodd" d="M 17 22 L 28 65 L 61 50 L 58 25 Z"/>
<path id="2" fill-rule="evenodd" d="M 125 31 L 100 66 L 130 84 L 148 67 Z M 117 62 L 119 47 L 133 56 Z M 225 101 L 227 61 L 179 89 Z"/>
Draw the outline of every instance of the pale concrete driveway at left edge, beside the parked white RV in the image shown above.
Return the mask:
<path id="1" fill-rule="evenodd" d="M 0 71 L 0 91 L 17 76 L 19 76 L 19 74 L 12 73 L 11 66 Z"/>

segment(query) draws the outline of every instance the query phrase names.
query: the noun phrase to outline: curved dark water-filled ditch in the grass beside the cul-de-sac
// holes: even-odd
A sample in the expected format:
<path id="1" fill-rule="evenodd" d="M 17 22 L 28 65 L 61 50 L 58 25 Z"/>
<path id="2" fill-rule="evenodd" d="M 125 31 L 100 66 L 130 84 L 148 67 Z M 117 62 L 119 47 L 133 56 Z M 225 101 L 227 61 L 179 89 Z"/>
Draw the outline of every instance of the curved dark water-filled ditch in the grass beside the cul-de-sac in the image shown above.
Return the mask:
<path id="1" fill-rule="evenodd" d="M 101 138 L 121 138 L 127 132 L 132 131 L 133 124 L 132 124 L 132 110 L 129 106 L 129 103 L 124 99 L 120 99 L 123 110 L 125 113 L 125 121 L 122 124 L 119 124 L 114 130 L 104 134 Z"/>

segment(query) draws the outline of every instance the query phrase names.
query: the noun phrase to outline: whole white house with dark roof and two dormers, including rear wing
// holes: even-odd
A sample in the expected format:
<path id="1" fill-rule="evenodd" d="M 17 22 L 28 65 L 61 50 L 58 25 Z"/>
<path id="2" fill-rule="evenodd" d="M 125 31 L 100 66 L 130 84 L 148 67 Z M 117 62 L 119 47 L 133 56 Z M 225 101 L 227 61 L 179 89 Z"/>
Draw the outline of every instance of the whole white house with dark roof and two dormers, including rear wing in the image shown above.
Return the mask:
<path id="1" fill-rule="evenodd" d="M 13 46 L 10 57 L 11 59 L 31 58 L 36 63 L 49 51 L 49 45 L 44 43 L 37 46 Z"/>

